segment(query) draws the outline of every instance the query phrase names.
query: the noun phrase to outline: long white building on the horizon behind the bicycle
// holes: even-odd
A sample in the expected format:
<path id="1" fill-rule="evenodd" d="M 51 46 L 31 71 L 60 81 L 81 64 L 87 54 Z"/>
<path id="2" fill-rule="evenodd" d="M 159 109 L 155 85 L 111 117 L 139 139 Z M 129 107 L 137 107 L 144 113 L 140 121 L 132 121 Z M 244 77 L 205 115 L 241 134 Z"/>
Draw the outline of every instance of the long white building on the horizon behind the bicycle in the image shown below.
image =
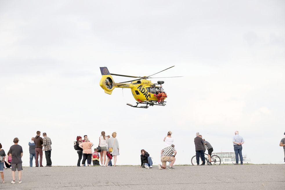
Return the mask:
<path id="1" fill-rule="evenodd" d="M 234 152 L 218 152 L 212 153 L 212 155 L 217 155 L 221 158 L 221 164 L 235 164 L 235 153 Z M 244 164 L 251 164 L 250 158 L 247 158 L 246 154 L 242 154 L 242 162 Z M 240 164 L 240 159 L 239 159 Z"/>

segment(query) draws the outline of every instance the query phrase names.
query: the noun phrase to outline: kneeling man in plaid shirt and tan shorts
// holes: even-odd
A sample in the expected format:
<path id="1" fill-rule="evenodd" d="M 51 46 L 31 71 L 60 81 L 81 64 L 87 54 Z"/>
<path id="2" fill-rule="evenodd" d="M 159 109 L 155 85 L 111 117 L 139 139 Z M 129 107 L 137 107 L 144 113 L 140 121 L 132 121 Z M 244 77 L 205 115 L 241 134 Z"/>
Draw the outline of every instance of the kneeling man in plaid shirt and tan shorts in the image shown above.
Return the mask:
<path id="1" fill-rule="evenodd" d="M 174 153 L 174 155 L 173 155 Z M 175 155 L 176 155 L 176 150 L 174 149 L 174 144 L 171 146 L 168 146 L 164 149 L 161 150 L 161 162 L 162 165 L 158 164 L 158 169 L 166 169 L 166 162 L 171 161 L 169 168 L 168 169 L 174 169 L 172 166 L 175 162 Z"/>

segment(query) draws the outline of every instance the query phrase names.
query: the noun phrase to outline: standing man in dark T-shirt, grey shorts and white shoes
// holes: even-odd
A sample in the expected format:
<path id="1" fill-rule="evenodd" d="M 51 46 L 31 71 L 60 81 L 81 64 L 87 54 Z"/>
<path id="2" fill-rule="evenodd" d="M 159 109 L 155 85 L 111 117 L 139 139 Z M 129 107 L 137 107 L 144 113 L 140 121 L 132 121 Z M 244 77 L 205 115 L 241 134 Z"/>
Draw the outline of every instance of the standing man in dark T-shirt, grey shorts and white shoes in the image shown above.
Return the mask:
<path id="1" fill-rule="evenodd" d="M 23 170 L 23 167 L 22 167 L 23 149 L 22 149 L 22 146 L 20 146 L 18 144 L 19 139 L 17 137 L 14 138 L 13 142 L 14 142 L 14 145 L 12 145 L 10 147 L 10 150 L 9 150 L 9 155 L 12 158 L 11 165 L 12 165 L 12 178 L 13 178 L 13 181 L 11 181 L 11 183 L 16 183 L 15 182 L 15 171 L 16 171 L 16 169 L 18 170 L 19 183 L 21 183 L 22 182 L 21 181 L 22 170 Z"/>

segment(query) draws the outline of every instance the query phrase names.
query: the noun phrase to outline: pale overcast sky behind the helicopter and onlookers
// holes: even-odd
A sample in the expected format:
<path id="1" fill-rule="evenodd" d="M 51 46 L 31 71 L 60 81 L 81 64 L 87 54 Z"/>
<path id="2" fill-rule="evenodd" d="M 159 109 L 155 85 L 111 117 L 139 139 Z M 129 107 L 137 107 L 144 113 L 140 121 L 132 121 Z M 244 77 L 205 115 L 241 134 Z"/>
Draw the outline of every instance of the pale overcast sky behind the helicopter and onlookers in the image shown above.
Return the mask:
<path id="1" fill-rule="evenodd" d="M 13 138 L 29 165 L 36 131 L 52 140 L 53 165 L 76 165 L 73 141 L 117 132 L 117 164 L 160 163 L 173 132 L 176 164 L 190 164 L 196 132 L 214 152 L 284 163 L 285 2 L 0 1 L 0 143 Z M 99 86 L 111 73 L 165 78 L 167 105 L 138 109 L 130 89 Z M 115 82 L 129 80 L 113 77 Z M 157 82 L 157 80 L 153 80 Z M 94 146 L 96 147 L 96 146 Z M 43 164 L 46 164 L 43 158 Z"/>

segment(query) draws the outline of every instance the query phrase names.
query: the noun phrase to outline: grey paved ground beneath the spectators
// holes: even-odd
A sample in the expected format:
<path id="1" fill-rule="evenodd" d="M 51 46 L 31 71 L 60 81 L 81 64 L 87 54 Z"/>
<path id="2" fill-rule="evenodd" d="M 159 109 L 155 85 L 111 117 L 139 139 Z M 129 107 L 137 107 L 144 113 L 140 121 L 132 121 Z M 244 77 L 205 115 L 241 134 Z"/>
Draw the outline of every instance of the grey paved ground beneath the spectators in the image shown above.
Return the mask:
<path id="1" fill-rule="evenodd" d="M 116 167 L 25 167 L 22 183 L 4 170 L 0 189 L 285 189 L 283 165 L 176 166 L 175 170 Z M 18 178 L 16 178 L 16 181 Z M 104 187 L 101 187 L 104 186 Z"/>

